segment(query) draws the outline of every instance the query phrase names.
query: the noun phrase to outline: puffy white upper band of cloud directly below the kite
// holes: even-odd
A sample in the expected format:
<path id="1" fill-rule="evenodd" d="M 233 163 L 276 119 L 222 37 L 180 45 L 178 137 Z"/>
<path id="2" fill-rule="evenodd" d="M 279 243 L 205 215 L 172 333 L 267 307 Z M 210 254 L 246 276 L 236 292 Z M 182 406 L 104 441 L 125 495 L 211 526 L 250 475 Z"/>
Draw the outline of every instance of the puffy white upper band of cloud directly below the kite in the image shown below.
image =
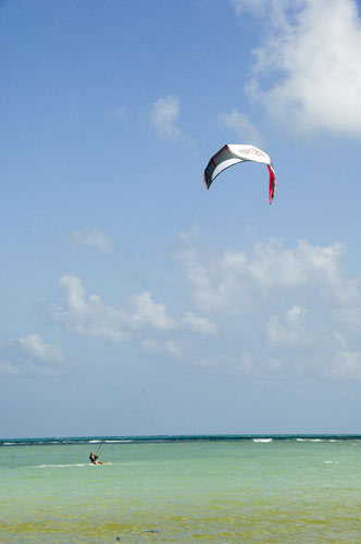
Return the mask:
<path id="1" fill-rule="evenodd" d="M 340 300 L 348 288 L 340 267 L 343 255 L 338 243 L 318 247 L 300 240 L 295 249 L 288 249 L 281 240 L 270 240 L 257 244 L 249 255 L 226 250 L 202 260 L 188 247 L 180 258 L 199 308 L 245 314 L 252 313 L 254 300 L 267 296 L 269 289 L 274 293 L 318 285 Z"/>

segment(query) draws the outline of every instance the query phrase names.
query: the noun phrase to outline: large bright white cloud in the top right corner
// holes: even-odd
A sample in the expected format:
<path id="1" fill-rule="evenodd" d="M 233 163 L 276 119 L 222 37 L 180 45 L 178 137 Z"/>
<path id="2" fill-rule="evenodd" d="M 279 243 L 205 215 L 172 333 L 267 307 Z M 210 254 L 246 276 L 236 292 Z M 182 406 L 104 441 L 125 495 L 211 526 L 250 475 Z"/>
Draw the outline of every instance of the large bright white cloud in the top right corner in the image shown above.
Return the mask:
<path id="1" fill-rule="evenodd" d="M 242 4 L 234 2 L 238 13 Z M 254 51 L 249 94 L 296 131 L 361 134 L 357 2 L 248 0 L 244 7 L 252 5 L 262 8 L 271 24 L 269 38 Z"/>

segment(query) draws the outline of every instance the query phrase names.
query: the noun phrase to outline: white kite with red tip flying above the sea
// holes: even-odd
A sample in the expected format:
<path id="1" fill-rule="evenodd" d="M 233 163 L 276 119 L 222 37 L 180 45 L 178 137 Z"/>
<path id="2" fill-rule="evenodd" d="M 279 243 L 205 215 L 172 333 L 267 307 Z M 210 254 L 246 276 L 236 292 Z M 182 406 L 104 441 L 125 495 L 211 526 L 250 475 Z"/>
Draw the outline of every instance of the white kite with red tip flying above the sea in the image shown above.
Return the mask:
<path id="1" fill-rule="evenodd" d="M 225 169 L 233 166 L 238 162 L 245 161 L 266 164 L 270 172 L 269 198 L 271 203 L 276 189 L 276 174 L 273 170 L 270 157 L 261 149 L 251 145 L 227 144 L 220 149 L 220 151 L 217 151 L 209 161 L 207 169 L 204 170 L 206 187 L 209 189 L 215 177 Z"/>

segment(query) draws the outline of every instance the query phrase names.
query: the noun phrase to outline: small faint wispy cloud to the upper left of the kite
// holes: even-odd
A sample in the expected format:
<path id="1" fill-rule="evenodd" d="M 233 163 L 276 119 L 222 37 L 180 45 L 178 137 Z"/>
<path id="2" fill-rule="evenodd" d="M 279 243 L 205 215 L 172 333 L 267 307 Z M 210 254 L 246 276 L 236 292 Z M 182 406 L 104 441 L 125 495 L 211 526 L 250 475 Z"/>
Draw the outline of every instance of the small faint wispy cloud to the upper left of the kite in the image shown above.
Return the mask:
<path id="1" fill-rule="evenodd" d="M 176 96 L 166 96 L 153 103 L 149 119 L 158 134 L 169 139 L 177 139 L 182 136 L 177 126 L 179 112 L 179 99 Z"/>

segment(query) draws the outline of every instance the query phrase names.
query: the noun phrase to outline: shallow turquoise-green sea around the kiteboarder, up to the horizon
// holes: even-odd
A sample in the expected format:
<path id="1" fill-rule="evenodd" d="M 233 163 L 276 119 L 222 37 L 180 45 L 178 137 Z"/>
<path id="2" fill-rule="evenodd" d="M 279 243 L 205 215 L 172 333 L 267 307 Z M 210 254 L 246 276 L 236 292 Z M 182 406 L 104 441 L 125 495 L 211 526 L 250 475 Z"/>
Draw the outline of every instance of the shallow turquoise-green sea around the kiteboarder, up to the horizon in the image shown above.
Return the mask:
<path id="1" fill-rule="evenodd" d="M 361 542 L 361 437 L 63 441 L 0 441 L 0 542 Z"/>

